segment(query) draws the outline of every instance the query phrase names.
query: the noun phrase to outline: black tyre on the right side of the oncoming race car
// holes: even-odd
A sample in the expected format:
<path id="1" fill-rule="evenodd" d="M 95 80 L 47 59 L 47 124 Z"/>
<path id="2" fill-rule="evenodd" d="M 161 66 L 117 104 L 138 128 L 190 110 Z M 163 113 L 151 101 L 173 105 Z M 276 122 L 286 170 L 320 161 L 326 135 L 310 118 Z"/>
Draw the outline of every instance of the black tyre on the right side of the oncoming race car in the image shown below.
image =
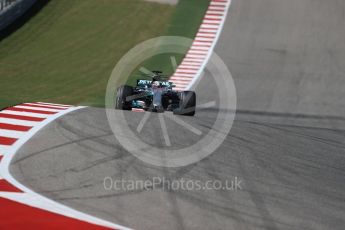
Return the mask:
<path id="1" fill-rule="evenodd" d="M 176 115 L 194 116 L 196 106 L 196 94 L 193 91 L 183 91 L 179 93 L 179 108 L 174 110 Z"/>

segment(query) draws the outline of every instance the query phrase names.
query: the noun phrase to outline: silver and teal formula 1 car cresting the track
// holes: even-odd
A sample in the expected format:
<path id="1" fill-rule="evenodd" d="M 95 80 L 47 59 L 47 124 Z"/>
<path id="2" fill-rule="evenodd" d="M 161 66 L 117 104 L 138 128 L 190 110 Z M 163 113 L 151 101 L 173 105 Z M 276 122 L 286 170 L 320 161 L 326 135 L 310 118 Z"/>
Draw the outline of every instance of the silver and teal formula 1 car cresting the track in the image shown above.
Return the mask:
<path id="1" fill-rule="evenodd" d="M 175 91 L 173 83 L 163 80 L 161 71 L 152 71 L 152 80 L 137 80 L 135 87 L 118 88 L 116 109 L 143 109 L 152 112 L 173 111 L 174 114 L 194 116 L 196 94 L 193 91 Z"/>

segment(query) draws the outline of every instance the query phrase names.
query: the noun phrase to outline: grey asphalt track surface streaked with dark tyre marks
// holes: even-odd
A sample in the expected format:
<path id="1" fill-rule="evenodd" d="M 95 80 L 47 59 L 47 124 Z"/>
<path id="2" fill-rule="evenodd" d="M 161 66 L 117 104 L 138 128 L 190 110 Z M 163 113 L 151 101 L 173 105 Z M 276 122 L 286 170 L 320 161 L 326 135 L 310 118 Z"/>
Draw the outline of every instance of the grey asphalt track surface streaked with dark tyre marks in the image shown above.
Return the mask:
<path id="1" fill-rule="evenodd" d="M 53 122 L 16 155 L 11 172 L 78 210 L 136 229 L 343 229 L 345 2 L 235 0 L 216 52 L 235 80 L 238 113 L 224 143 L 188 167 L 151 166 L 125 151 L 103 109 Z M 198 103 L 217 100 L 206 74 Z M 206 133 L 216 108 L 186 122 Z M 135 128 L 143 114 L 128 113 Z M 164 143 L 152 114 L 143 140 Z M 173 145 L 197 140 L 167 120 Z M 159 134 L 157 136 L 157 134 Z M 176 143 L 174 142 L 176 141 Z M 241 180 L 241 189 L 131 191 L 103 180 Z"/>

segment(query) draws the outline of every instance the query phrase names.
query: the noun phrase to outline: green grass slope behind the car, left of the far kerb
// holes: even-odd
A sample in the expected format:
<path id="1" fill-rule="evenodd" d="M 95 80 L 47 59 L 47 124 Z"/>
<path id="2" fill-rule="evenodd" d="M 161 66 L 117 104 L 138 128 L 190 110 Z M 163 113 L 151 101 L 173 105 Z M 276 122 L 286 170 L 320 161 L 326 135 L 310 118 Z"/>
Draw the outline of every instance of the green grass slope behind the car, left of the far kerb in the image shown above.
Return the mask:
<path id="1" fill-rule="evenodd" d="M 103 106 L 111 71 L 128 50 L 156 36 L 193 38 L 208 3 L 50 1 L 0 42 L 0 108 L 34 101 Z M 168 70 L 170 57 L 147 64 Z"/>

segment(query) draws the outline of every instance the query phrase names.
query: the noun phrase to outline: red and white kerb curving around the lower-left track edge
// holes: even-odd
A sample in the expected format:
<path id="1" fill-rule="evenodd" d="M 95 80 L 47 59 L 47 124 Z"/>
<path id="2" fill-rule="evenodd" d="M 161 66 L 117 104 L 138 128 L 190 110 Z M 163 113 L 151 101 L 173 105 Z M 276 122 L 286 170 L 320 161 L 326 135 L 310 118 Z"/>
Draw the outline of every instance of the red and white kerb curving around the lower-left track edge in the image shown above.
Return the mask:
<path id="1" fill-rule="evenodd" d="M 40 126 L 78 108 L 37 102 L 0 111 L 0 229 L 126 229 L 43 198 L 9 174 L 13 155 Z"/>

